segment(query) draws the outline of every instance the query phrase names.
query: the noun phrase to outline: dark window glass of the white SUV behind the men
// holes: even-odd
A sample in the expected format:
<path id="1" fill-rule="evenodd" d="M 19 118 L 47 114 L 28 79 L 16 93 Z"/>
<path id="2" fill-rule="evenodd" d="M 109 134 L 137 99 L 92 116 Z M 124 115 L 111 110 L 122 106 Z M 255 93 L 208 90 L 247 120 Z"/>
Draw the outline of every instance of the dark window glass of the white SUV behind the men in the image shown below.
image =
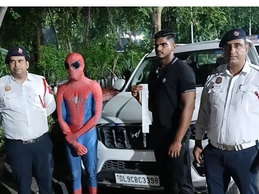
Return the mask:
<path id="1" fill-rule="evenodd" d="M 258 47 L 256 49 L 258 49 Z M 255 52 L 252 49 L 249 49 L 247 56 L 251 63 L 258 65 L 256 63 L 257 59 L 255 60 L 257 54 L 255 56 L 254 53 Z M 212 72 L 212 70 L 217 68 L 219 65 L 225 64 L 222 49 L 220 48 L 212 50 L 176 53 L 175 56 L 193 68 L 196 76 L 196 86 L 203 86 L 207 79 L 207 76 Z M 155 71 L 155 69 L 157 69 L 158 67 L 158 64 L 158 58 L 146 58 L 139 66 L 131 81 L 131 84 L 128 85 L 126 91 L 130 91 L 132 85 L 148 83 L 149 73 Z"/>

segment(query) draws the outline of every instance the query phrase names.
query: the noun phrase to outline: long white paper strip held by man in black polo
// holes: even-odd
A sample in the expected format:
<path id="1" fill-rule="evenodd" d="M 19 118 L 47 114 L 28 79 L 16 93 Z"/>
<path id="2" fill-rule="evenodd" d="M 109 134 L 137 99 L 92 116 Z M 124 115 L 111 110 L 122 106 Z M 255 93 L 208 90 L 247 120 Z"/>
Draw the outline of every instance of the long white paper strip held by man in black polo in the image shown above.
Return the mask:
<path id="1" fill-rule="evenodd" d="M 148 84 L 140 84 L 143 86 L 140 96 L 142 104 L 142 132 L 149 133 L 149 125 L 152 124 L 148 109 Z"/>

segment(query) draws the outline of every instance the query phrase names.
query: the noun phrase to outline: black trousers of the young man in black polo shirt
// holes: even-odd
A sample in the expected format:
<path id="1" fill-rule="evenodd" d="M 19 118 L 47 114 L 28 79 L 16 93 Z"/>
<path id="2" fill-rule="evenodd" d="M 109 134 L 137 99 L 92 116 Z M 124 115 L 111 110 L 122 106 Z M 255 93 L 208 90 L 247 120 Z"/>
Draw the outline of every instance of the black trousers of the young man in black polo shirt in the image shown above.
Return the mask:
<path id="1" fill-rule="evenodd" d="M 168 156 L 170 142 L 167 140 L 156 141 L 154 146 L 155 158 L 160 170 L 160 180 L 166 194 L 193 193 L 191 164 L 189 155 L 190 133 L 184 136 L 180 157 Z"/>

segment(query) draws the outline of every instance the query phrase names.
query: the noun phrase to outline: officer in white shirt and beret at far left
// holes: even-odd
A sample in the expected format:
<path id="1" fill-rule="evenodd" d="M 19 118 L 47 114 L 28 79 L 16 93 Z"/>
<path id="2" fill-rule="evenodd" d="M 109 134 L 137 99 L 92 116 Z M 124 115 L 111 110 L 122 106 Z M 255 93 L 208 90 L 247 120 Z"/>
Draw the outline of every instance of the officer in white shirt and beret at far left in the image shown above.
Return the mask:
<path id="1" fill-rule="evenodd" d="M 31 193 L 32 175 L 39 193 L 52 193 L 52 141 L 47 116 L 56 109 L 51 88 L 43 76 L 28 73 L 29 56 L 14 47 L 6 56 L 11 75 L 0 78 L 0 115 L 6 154 L 19 194 Z"/>

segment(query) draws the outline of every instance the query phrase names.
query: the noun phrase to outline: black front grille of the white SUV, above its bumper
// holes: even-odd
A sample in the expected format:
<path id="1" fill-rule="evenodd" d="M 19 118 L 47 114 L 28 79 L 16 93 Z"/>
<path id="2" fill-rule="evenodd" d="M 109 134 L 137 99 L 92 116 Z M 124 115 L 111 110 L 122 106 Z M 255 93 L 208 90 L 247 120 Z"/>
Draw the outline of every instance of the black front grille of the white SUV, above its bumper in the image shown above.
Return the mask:
<path id="1" fill-rule="evenodd" d="M 142 133 L 138 123 L 101 124 L 97 126 L 98 138 L 111 149 L 151 150 L 150 133 Z"/>

